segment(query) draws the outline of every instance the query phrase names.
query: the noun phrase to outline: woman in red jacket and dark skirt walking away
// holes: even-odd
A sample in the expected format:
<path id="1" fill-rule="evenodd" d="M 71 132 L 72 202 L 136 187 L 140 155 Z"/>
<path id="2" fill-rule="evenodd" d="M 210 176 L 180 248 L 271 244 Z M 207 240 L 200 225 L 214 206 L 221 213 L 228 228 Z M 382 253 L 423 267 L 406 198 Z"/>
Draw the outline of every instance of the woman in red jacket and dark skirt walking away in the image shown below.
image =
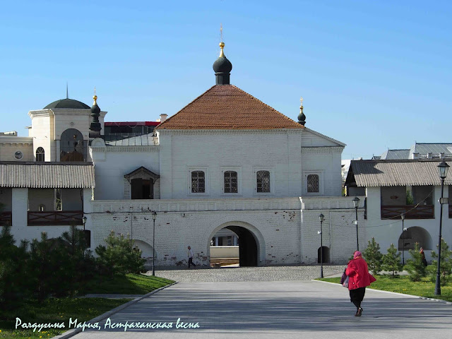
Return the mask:
<path id="1" fill-rule="evenodd" d="M 350 290 L 350 302 L 356 306 L 355 316 L 361 316 L 361 302 L 366 293 L 366 286 L 375 281 L 369 274 L 366 261 L 362 258 L 361 252 L 356 251 L 352 260 L 349 261 L 345 274 L 348 276 L 348 290 Z"/>

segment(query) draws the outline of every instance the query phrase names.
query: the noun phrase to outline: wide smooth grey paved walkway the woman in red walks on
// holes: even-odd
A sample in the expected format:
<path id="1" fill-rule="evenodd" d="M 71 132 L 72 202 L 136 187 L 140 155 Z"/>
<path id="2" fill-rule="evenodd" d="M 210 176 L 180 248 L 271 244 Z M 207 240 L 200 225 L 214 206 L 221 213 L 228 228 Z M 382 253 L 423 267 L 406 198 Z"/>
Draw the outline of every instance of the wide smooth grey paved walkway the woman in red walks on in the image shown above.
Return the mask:
<path id="1" fill-rule="evenodd" d="M 367 290 L 355 317 L 348 291 L 313 281 L 178 283 L 111 316 L 112 323 L 199 323 L 196 329 L 88 330 L 94 338 L 452 338 L 452 306 Z"/>

